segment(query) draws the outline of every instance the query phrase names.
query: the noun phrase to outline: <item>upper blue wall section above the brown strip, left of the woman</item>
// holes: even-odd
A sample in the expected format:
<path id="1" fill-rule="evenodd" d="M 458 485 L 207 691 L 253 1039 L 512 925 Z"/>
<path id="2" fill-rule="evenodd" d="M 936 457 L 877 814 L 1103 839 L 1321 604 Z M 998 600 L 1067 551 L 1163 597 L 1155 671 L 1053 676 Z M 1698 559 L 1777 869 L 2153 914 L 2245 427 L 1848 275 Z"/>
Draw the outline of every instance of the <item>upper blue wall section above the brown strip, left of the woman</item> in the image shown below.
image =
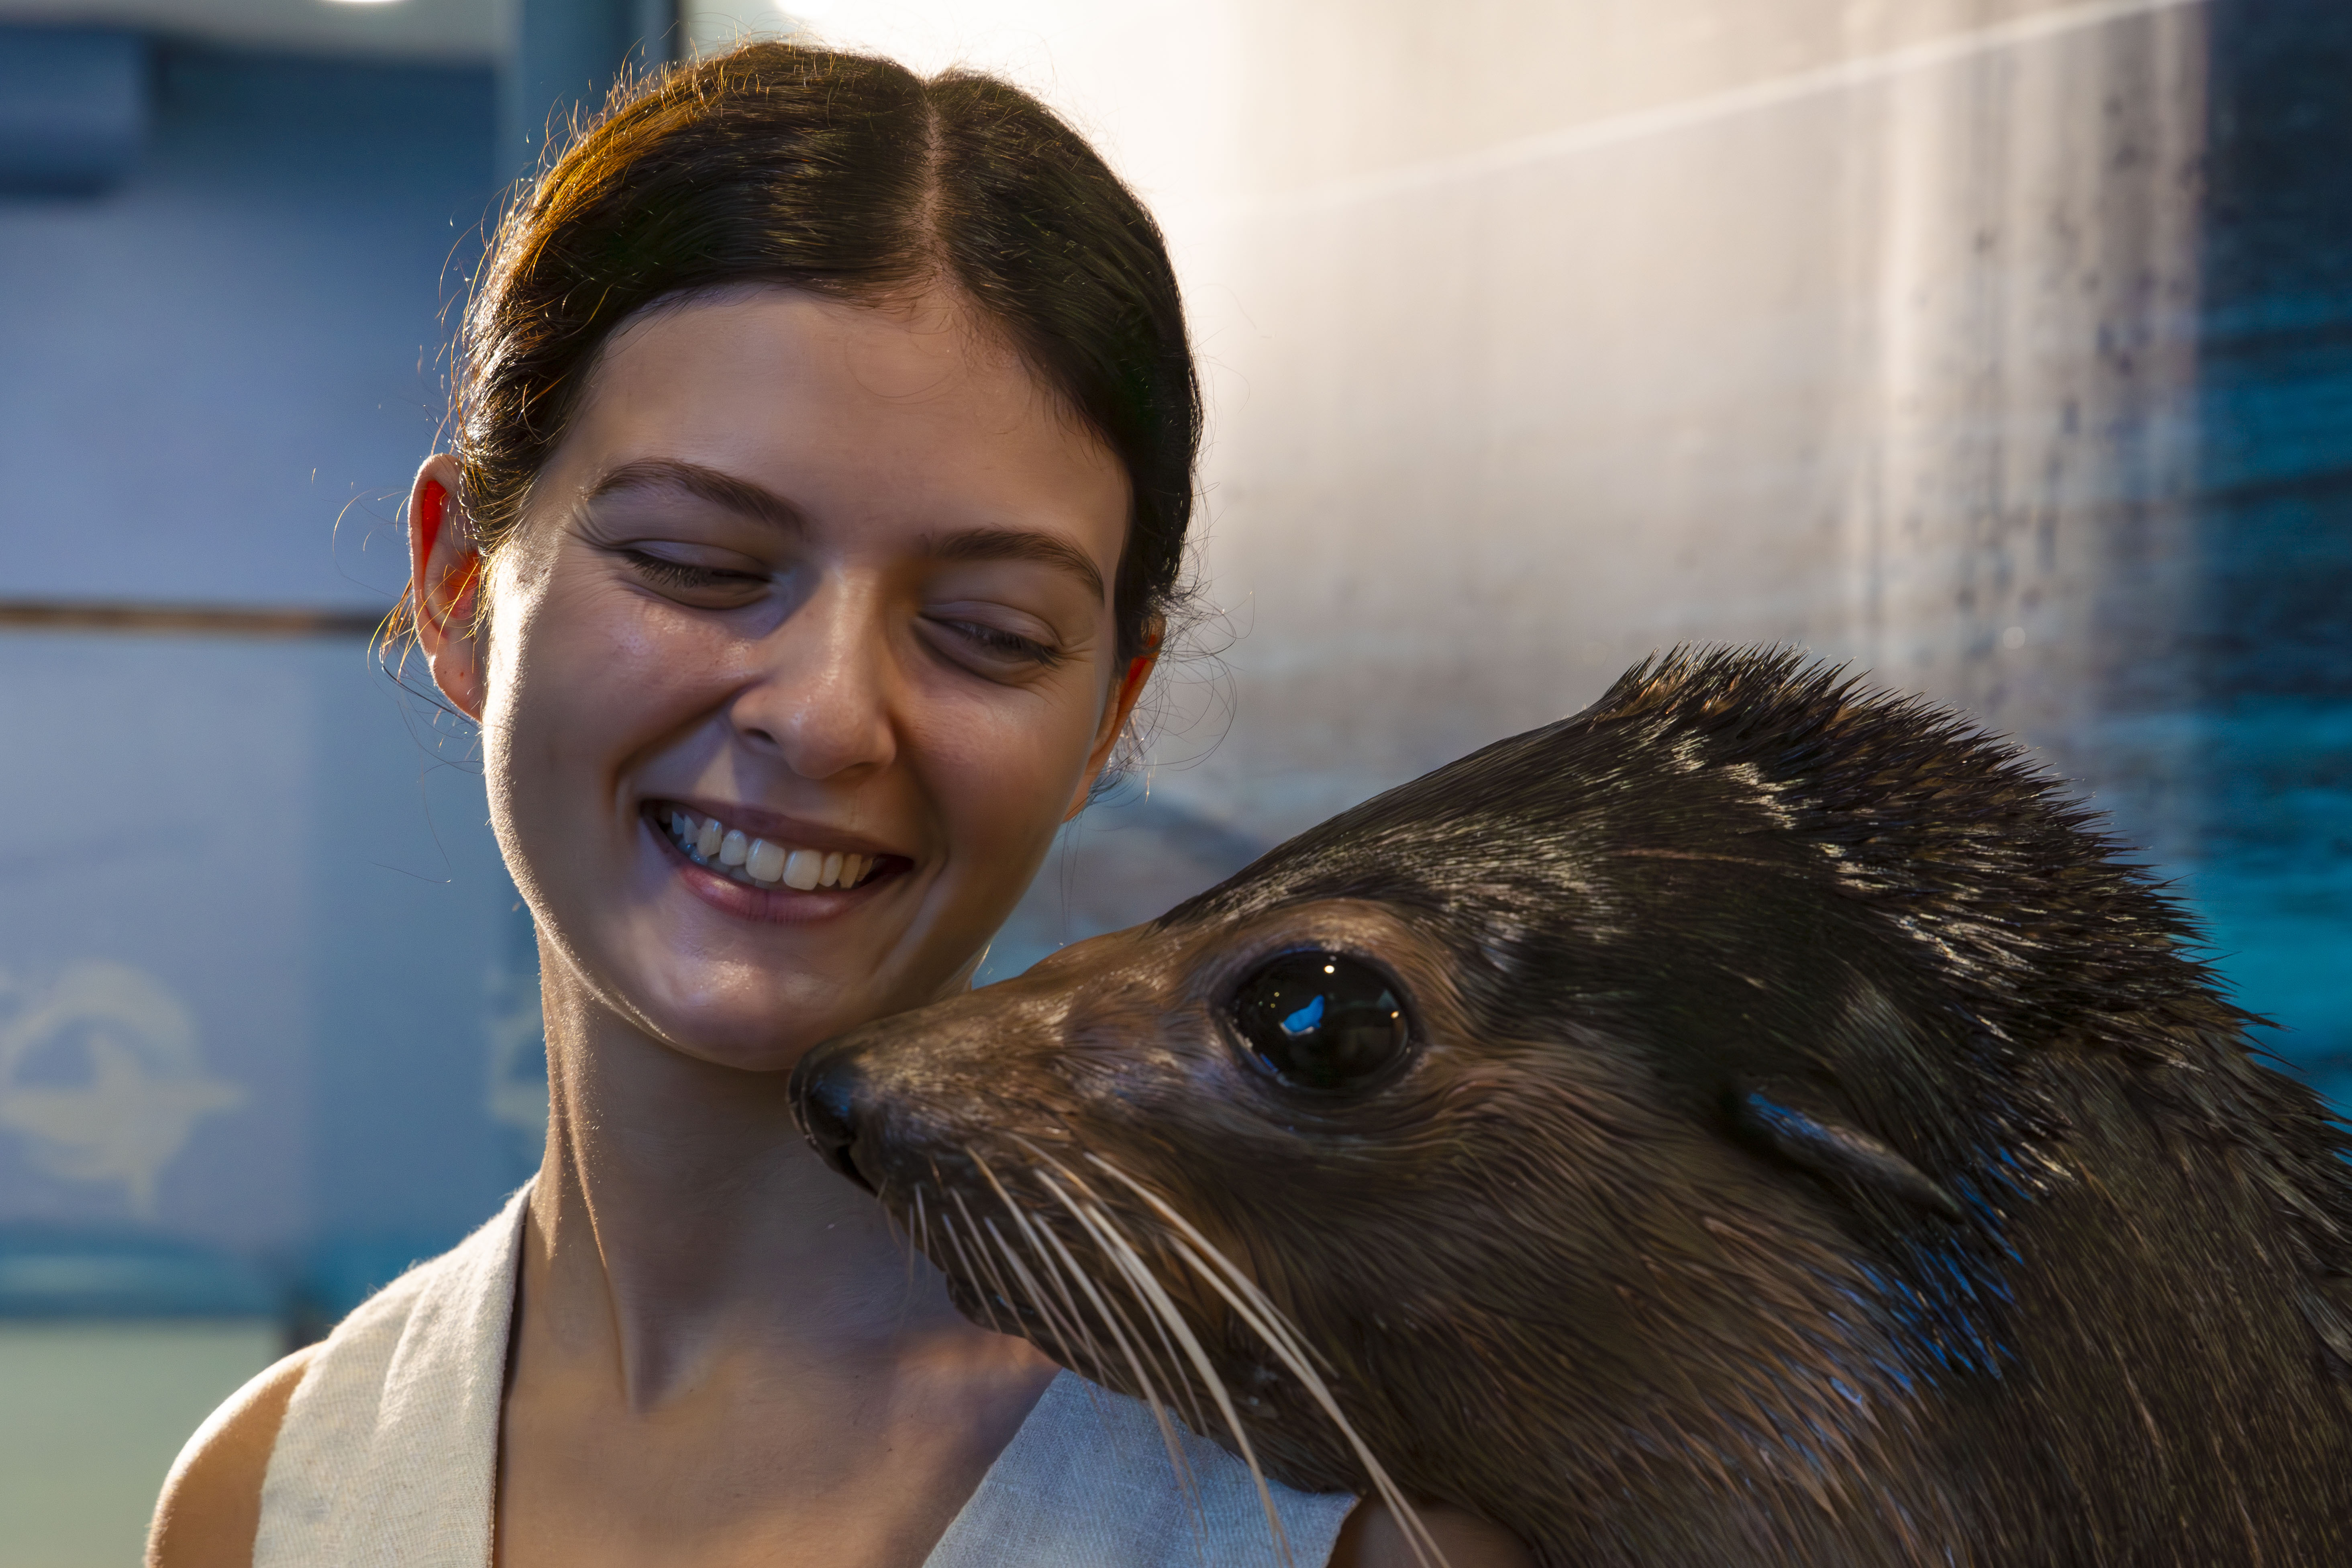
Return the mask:
<path id="1" fill-rule="evenodd" d="M 0 590 L 386 604 L 496 195 L 492 73 L 153 73 L 127 183 L 0 200 Z"/>

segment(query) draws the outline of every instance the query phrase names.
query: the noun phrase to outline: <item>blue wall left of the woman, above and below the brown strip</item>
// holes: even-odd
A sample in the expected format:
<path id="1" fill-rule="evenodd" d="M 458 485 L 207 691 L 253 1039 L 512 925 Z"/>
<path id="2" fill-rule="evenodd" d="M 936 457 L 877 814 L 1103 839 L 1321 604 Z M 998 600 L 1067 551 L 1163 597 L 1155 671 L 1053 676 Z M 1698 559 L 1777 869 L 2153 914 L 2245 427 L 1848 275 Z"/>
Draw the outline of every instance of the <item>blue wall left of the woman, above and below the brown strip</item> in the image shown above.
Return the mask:
<path id="1" fill-rule="evenodd" d="M 390 604 L 492 127 L 487 68 L 165 47 L 122 186 L 0 200 L 0 597 Z M 358 639 L 0 628 L 0 1253 L 167 1232 L 332 1316 L 536 1164 L 433 719 Z"/>

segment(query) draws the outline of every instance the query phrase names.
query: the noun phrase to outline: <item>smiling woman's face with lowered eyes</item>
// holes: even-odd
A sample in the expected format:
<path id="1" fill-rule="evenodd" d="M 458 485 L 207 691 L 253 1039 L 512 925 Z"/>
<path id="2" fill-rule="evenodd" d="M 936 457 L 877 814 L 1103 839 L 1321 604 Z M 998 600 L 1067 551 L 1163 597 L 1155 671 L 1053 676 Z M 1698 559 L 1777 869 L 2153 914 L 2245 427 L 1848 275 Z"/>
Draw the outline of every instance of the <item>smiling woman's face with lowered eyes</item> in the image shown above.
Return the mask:
<path id="1" fill-rule="evenodd" d="M 433 639 L 581 999 L 776 1070 L 964 983 L 1134 701 L 1127 510 L 946 299 L 757 287 L 616 334 L 485 642 Z M 419 581 L 461 581 L 442 534 Z"/>

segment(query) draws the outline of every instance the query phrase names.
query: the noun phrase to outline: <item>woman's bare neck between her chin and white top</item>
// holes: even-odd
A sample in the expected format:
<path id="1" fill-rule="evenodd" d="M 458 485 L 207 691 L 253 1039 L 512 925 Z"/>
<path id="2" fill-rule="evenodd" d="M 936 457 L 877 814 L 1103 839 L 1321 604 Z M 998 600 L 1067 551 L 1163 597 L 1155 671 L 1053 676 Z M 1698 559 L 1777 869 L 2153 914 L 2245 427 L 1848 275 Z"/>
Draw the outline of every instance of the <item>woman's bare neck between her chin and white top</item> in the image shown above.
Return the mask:
<path id="1" fill-rule="evenodd" d="M 550 985 L 548 1150 L 524 1298 L 652 1408 L 743 1354 L 826 1375 L 1002 1356 L 868 1194 L 793 1126 L 781 1072 L 694 1060 Z M 1035 1354 L 1035 1352 L 1028 1352 Z"/>

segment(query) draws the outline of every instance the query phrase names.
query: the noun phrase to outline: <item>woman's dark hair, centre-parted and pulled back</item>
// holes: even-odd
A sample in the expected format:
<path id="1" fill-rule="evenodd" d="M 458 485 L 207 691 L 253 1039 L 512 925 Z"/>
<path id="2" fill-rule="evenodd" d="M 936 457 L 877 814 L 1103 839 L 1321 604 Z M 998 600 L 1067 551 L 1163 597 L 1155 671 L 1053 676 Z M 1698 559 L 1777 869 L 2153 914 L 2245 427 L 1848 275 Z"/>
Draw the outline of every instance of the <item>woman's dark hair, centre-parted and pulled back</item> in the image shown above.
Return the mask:
<path id="1" fill-rule="evenodd" d="M 694 289 L 861 303 L 946 284 L 1120 456 L 1120 656 L 1178 592 L 1200 383 L 1160 226 L 1025 92 L 750 42 L 623 87 L 515 200 L 461 341 L 454 456 L 485 552 L 515 529 L 614 327 Z"/>

